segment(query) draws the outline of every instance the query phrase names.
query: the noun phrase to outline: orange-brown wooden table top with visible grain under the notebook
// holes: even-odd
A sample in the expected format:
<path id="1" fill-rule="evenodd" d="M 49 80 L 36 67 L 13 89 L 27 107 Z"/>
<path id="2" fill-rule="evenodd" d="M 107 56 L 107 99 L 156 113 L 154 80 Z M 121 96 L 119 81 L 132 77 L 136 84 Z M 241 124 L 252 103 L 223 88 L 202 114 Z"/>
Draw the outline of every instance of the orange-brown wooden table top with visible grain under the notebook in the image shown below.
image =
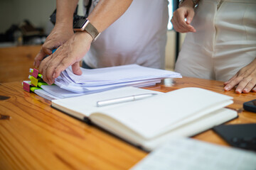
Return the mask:
<path id="1" fill-rule="evenodd" d="M 201 87 L 234 98 L 230 108 L 256 98 L 255 93 L 223 91 L 223 82 L 184 77 L 166 79 L 147 87 L 173 91 Z M 129 169 L 146 156 L 112 135 L 50 107 L 47 101 L 21 88 L 21 81 L 0 84 L 0 169 Z M 10 118 L 9 118 L 10 116 Z M 234 123 L 256 123 L 256 114 L 239 113 Z M 218 145 L 228 145 L 213 130 L 193 137 Z"/>

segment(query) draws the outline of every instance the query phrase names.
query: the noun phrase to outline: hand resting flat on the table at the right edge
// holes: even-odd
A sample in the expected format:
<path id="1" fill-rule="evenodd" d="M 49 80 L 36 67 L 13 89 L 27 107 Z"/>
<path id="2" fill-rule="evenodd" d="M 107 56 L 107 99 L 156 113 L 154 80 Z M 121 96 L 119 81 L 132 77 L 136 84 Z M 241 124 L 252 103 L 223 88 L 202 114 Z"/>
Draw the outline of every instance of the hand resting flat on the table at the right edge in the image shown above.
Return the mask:
<path id="1" fill-rule="evenodd" d="M 239 70 L 235 76 L 224 83 L 225 91 L 230 91 L 233 87 L 237 86 L 235 93 L 249 93 L 250 91 L 256 92 L 256 58 L 250 64 Z"/>

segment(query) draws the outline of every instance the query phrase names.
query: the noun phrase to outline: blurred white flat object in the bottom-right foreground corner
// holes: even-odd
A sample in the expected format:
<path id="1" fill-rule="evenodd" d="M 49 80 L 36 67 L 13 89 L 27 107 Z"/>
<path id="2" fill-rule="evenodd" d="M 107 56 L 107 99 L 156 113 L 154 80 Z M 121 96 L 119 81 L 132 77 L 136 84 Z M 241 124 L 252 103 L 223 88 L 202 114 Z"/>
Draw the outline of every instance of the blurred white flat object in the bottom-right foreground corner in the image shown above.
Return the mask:
<path id="1" fill-rule="evenodd" d="M 255 170 L 256 153 L 174 138 L 151 152 L 130 170 Z"/>

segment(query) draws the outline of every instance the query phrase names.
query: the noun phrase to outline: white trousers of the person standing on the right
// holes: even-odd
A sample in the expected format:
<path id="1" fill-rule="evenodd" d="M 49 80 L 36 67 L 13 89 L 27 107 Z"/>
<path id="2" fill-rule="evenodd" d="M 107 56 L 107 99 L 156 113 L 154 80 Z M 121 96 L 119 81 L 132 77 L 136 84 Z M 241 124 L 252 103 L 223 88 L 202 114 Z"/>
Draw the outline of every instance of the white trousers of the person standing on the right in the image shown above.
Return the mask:
<path id="1" fill-rule="evenodd" d="M 228 81 L 256 57 L 256 0 L 201 0 L 176 62 L 185 77 Z"/>

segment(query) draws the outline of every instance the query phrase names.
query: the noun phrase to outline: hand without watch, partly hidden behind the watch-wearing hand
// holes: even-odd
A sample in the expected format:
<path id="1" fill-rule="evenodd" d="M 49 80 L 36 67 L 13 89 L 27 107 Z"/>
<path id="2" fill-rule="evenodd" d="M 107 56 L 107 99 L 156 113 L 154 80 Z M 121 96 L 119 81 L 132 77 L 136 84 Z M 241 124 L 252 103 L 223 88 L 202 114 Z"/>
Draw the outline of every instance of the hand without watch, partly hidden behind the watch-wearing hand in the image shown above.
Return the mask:
<path id="1" fill-rule="evenodd" d="M 46 57 L 46 55 L 51 55 L 54 48 L 63 45 L 68 39 L 72 37 L 73 34 L 73 28 L 65 26 L 64 24 L 56 25 L 51 31 L 50 35 L 48 35 L 46 38 L 46 42 L 43 43 L 41 50 L 38 52 L 38 55 L 36 55 L 33 63 L 34 67 L 38 68 L 41 61 L 43 60 L 43 57 Z"/>

